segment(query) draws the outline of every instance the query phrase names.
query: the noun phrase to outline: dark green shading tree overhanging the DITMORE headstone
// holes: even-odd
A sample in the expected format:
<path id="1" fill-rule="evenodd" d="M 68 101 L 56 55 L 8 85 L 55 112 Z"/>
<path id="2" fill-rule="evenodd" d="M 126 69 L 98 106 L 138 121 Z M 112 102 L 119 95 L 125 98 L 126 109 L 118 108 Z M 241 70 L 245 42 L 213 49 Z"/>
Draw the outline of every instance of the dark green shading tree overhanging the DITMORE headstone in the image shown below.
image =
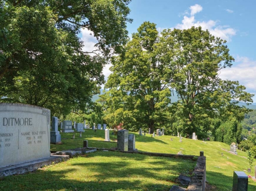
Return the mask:
<path id="1" fill-rule="evenodd" d="M 127 41 L 129 2 L 0 0 L 1 101 L 84 110 L 104 82 L 103 66 Z M 97 52 L 83 51 L 82 28 L 97 38 Z"/>

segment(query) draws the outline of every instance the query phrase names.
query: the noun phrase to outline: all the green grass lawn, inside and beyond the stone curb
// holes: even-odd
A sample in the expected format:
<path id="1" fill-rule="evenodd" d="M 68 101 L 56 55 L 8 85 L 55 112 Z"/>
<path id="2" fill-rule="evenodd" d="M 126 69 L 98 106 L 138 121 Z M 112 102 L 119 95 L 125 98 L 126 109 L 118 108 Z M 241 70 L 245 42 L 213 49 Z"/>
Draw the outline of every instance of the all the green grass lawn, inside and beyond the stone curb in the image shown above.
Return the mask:
<path id="1" fill-rule="evenodd" d="M 114 141 L 114 135 L 110 139 Z M 130 132 L 129 132 L 130 133 Z M 72 135 L 75 134 L 75 139 Z M 233 171 L 247 171 L 248 159 L 245 152 L 238 150 L 233 155 L 225 150 L 230 146 L 222 142 L 203 142 L 200 140 L 178 137 L 136 135 L 138 151 L 206 156 L 207 181 L 215 186 L 216 191 L 231 191 Z M 87 129 L 79 138 L 79 133 L 61 133 L 62 144 L 52 145 L 51 151 L 70 150 L 83 147 L 83 140 L 88 140 L 89 147 L 115 148 L 116 142 L 104 142 L 105 131 Z M 173 139 L 171 141 L 170 139 Z M 223 153 L 223 157 L 221 155 Z M 194 168 L 194 161 L 151 157 L 140 154 L 98 151 L 76 157 L 69 161 L 45 167 L 36 172 L 0 179 L 0 190 L 88 190 L 88 191 L 168 191 L 175 184 L 175 178 L 183 173 L 189 174 Z M 254 176 L 252 172 L 245 172 Z M 11 184 L 10 184 L 11 183 Z M 256 182 L 248 179 L 248 191 L 256 191 Z"/>

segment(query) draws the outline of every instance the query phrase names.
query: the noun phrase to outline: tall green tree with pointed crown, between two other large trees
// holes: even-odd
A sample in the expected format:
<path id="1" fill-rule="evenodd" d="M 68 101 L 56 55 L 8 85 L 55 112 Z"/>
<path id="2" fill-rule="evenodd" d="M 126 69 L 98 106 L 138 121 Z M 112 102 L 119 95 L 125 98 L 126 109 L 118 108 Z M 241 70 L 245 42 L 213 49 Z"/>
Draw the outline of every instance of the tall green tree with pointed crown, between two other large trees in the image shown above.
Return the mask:
<path id="1" fill-rule="evenodd" d="M 117 97 L 115 100 L 119 103 L 106 118 L 122 116 L 114 114 L 117 112 L 126 114 L 124 116 L 131 114 L 129 118 L 136 121 L 133 125 L 136 129 L 145 127 L 151 133 L 156 124 L 166 120 L 164 111 L 170 102 L 172 70 L 166 52 L 158 48 L 159 41 L 156 25 L 144 22 L 138 32 L 132 34 L 125 53 L 113 59 L 110 68 L 113 73 L 105 87 L 110 89 L 107 94 Z M 111 102 L 106 103 L 112 107 L 108 104 Z M 131 128 L 126 122 L 123 121 L 124 127 Z"/>

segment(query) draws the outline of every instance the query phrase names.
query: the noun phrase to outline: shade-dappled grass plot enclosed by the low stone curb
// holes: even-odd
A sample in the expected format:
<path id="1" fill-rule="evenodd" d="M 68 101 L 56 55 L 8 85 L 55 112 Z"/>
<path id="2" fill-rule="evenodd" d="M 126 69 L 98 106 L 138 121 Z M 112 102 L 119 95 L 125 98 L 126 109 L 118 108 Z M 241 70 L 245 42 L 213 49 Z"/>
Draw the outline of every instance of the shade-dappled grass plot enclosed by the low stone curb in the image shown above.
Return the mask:
<path id="1" fill-rule="evenodd" d="M 1 191 L 169 191 L 196 162 L 113 151 L 75 157 L 25 175 L 0 179 Z"/>

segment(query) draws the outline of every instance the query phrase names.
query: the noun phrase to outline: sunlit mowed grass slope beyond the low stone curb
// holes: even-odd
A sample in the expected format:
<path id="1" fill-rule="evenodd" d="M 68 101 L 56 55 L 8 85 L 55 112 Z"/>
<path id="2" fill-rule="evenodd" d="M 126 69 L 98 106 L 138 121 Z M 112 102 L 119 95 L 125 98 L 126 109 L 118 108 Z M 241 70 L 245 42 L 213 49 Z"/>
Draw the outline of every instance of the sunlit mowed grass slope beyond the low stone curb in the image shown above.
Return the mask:
<path id="1" fill-rule="evenodd" d="M 87 129 L 83 133 L 82 138 L 79 138 L 79 133 L 75 133 L 75 139 L 71 139 L 73 133 L 62 133 L 61 136 L 63 145 L 51 145 L 51 150 L 65 150 L 64 148 L 78 148 L 83 147 L 83 140 L 88 140 L 89 147 L 97 148 L 114 148 L 117 146 L 116 142 L 103 142 L 105 140 L 105 131 Z M 114 135 L 110 139 L 114 140 Z M 131 134 L 131 132 L 129 132 Z M 247 154 L 243 151 L 237 150 L 237 155 L 230 154 L 230 146 L 223 142 L 211 142 L 202 140 L 182 139 L 174 136 L 156 136 L 154 138 L 147 134 L 146 136 L 136 135 L 136 149 L 143 152 L 154 153 L 169 153 L 177 154 L 181 152 L 187 155 L 200 155 L 200 151 L 204 152 L 206 156 L 206 170 L 207 181 L 209 184 L 215 186 L 216 191 L 232 191 L 233 172 L 244 171 L 247 175 L 255 176 L 256 161 L 253 162 L 251 173 L 247 172 L 249 167 Z M 67 138 L 67 139 L 65 139 Z M 170 139 L 173 139 L 171 141 Z M 74 144 L 74 142 L 76 142 Z M 224 150 L 223 150 L 224 149 Z M 227 151 L 226 151 L 227 150 Z M 223 153 L 223 157 L 222 157 Z M 256 182 L 252 178 L 248 179 L 248 191 L 256 191 Z"/>

